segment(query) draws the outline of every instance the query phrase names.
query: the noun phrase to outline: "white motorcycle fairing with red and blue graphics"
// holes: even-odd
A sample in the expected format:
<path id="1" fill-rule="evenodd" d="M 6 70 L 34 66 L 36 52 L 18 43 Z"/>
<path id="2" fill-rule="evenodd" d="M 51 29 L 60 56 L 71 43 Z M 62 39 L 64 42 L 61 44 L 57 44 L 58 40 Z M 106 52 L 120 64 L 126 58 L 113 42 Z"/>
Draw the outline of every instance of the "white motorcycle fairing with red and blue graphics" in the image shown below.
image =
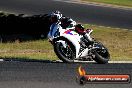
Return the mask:
<path id="1" fill-rule="evenodd" d="M 79 35 L 78 33 L 76 33 L 73 28 L 62 29 L 62 27 L 60 25 L 54 25 L 54 28 L 57 29 L 57 30 L 56 30 L 56 32 L 54 32 L 54 34 L 53 34 L 54 36 L 52 35 L 51 36 L 52 38 L 50 37 L 51 39 L 55 39 L 55 38 L 58 38 L 58 37 L 63 37 L 63 38 L 66 38 L 67 40 L 69 40 L 74 45 L 75 50 L 76 50 L 75 51 L 75 54 L 76 54 L 75 59 L 87 56 L 88 48 L 80 50 L 80 48 L 81 48 L 81 46 L 80 46 L 80 41 L 81 40 L 80 39 L 81 39 L 81 37 L 83 37 L 82 35 Z M 65 41 L 58 40 L 57 42 L 62 43 L 62 45 L 64 47 L 66 47 Z"/>

